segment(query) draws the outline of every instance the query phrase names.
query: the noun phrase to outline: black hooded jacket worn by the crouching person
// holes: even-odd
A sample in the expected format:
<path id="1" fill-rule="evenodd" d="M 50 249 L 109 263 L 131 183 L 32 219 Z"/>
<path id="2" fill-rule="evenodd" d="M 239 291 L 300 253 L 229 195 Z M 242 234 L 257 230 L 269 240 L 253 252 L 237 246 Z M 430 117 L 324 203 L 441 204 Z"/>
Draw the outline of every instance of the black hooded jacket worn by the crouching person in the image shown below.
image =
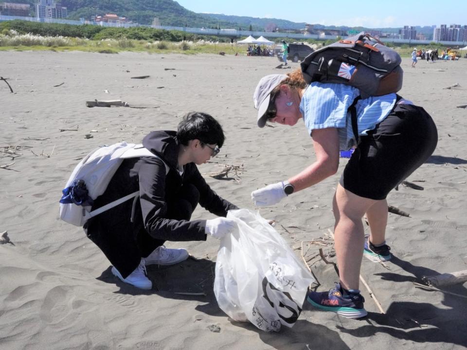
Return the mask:
<path id="1" fill-rule="evenodd" d="M 228 210 L 238 209 L 209 187 L 195 163 L 186 164 L 180 175 L 177 168 L 180 144 L 175 131 L 151 132 L 144 137 L 143 145 L 158 157 L 125 159 L 110 180 L 107 190 L 95 200 L 92 210 L 138 190 L 139 198 L 135 203 L 130 199 L 91 218 L 88 231 L 93 226 L 102 227 L 103 222 L 108 222 L 115 231 L 138 231 L 144 227 L 149 235 L 164 241 L 206 240 L 206 220 L 186 221 L 166 217 L 166 198 L 175 195 L 188 183 L 198 189 L 199 204 L 213 214 L 226 216 Z M 169 167 L 167 174 L 164 163 Z M 133 222 L 130 223 L 132 217 Z M 95 220 L 99 220 L 100 225 L 94 225 Z"/>

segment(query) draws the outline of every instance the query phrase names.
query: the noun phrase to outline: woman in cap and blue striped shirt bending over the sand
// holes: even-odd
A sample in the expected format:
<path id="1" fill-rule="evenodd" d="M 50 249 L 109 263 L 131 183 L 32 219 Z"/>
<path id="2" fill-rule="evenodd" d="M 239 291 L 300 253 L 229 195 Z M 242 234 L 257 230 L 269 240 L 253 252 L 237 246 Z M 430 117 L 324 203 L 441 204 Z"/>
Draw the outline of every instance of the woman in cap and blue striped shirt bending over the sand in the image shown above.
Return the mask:
<path id="1" fill-rule="evenodd" d="M 362 256 L 372 261 L 391 259 L 385 241 L 386 196 L 430 157 L 438 140 L 436 126 L 422 107 L 395 93 L 356 100 L 359 95 L 357 88 L 344 84 L 306 85 L 300 69 L 263 77 L 253 95 L 259 127 L 267 122 L 293 126 L 303 120 L 316 155 L 316 161 L 299 174 L 251 192 L 255 205 L 275 205 L 287 195 L 335 175 L 339 151 L 355 147 L 332 204 L 340 282 L 329 292 L 307 296 L 313 306 L 348 318 L 367 315 L 359 291 Z M 354 101 L 358 141 L 348 127 Z M 370 226 L 368 240 L 364 215 Z"/>

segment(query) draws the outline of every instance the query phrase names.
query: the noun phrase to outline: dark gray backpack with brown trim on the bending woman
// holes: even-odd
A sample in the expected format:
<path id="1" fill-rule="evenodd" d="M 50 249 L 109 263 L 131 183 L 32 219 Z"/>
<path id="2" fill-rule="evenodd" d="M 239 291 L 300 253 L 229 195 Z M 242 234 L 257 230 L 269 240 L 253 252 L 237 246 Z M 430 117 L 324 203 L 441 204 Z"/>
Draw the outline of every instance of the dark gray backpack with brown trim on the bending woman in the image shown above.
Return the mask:
<path id="1" fill-rule="evenodd" d="M 310 53 L 301 63 L 305 82 L 340 83 L 360 90 L 361 98 L 402 88 L 400 56 L 363 32 Z"/>

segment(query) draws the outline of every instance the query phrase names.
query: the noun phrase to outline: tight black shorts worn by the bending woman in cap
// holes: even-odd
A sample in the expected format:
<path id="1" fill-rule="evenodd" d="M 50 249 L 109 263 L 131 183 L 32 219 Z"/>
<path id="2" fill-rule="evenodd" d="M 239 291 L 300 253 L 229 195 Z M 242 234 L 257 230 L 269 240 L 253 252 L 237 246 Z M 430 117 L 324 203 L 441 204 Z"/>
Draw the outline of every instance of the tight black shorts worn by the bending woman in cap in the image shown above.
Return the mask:
<path id="1" fill-rule="evenodd" d="M 438 132 L 431 116 L 415 105 L 399 104 L 360 143 L 341 176 L 341 186 L 360 197 L 385 199 L 431 156 Z"/>

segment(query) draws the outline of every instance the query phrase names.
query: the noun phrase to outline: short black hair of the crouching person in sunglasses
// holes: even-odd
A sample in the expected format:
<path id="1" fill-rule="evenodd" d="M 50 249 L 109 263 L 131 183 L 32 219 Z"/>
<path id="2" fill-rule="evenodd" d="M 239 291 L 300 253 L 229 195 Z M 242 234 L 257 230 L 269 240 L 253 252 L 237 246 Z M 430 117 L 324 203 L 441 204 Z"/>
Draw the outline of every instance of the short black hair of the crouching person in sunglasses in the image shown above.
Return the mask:
<path id="1" fill-rule="evenodd" d="M 225 140 L 222 126 L 211 115 L 202 112 L 189 112 L 183 117 L 177 129 L 177 138 L 185 146 L 189 140 L 198 139 L 219 148 Z"/>

